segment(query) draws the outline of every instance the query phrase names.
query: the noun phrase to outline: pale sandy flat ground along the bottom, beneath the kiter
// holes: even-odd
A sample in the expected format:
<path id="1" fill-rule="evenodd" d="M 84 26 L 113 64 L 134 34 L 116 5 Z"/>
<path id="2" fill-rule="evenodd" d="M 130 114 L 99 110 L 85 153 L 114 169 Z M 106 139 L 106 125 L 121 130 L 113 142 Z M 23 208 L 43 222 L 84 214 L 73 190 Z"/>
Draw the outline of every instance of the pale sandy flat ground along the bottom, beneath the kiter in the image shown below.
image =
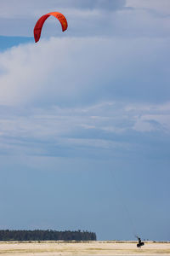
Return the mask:
<path id="1" fill-rule="evenodd" d="M 170 255 L 170 242 L 146 241 L 141 249 L 136 241 L 32 241 L 0 242 L 1 256 L 68 256 L 68 255 Z"/>

